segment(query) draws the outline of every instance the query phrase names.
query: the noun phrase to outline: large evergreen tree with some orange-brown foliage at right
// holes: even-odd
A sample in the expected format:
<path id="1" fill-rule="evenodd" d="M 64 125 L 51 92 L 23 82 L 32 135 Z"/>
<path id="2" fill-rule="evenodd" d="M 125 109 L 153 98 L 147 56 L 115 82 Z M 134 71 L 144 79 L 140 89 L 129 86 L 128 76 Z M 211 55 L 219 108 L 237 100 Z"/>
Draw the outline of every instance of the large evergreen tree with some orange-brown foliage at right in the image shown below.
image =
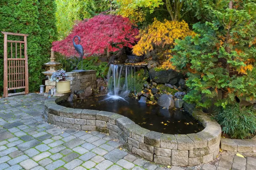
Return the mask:
<path id="1" fill-rule="evenodd" d="M 218 5 L 216 5 L 218 4 Z M 256 97 L 256 3 L 255 0 L 218 0 L 204 3 L 209 21 L 193 25 L 197 35 L 176 40 L 173 65 L 188 75 L 189 93 L 184 97 L 197 107 L 209 107 L 212 98 L 225 108 L 238 98 Z"/>

